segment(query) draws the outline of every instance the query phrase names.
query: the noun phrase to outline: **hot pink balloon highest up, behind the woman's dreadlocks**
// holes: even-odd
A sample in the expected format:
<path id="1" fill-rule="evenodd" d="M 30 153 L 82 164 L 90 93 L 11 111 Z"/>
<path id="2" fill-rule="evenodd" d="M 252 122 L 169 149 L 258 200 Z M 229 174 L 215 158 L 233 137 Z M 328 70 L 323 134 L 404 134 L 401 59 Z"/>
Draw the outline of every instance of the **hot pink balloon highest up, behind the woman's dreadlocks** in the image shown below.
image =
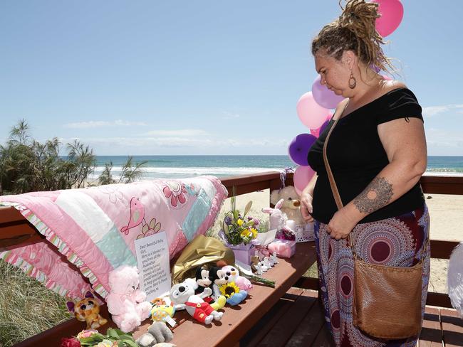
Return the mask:
<path id="1" fill-rule="evenodd" d="M 373 0 L 377 3 L 380 18 L 376 18 L 376 30 L 381 36 L 390 35 L 403 18 L 403 5 L 400 0 Z"/>

